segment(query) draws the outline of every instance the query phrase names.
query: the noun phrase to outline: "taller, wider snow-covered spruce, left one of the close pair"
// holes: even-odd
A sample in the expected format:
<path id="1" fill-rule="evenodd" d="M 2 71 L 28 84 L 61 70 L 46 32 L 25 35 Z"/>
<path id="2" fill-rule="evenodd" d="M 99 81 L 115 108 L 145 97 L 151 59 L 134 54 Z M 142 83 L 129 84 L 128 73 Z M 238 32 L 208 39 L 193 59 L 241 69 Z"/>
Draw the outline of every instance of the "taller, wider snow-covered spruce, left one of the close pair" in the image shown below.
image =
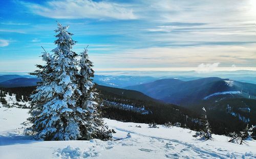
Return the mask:
<path id="1" fill-rule="evenodd" d="M 76 107 L 81 92 L 77 85 L 77 54 L 72 51 L 75 41 L 67 31 L 68 26 L 58 23 L 55 30 L 55 44 L 53 56 L 45 52 L 42 56 L 45 66 L 34 74 L 41 83 L 33 94 L 35 106 L 30 111 L 33 123 L 32 130 L 35 138 L 41 140 L 77 140 L 81 138 L 80 124 L 86 115 L 86 110 Z"/>

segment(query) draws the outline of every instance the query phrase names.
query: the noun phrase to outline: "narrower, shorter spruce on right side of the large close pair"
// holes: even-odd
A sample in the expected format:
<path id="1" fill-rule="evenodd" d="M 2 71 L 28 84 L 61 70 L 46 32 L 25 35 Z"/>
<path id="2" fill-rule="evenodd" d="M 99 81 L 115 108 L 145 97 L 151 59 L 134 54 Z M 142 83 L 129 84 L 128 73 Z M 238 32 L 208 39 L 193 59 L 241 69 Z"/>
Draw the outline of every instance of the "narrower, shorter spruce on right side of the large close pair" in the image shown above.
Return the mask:
<path id="1" fill-rule="evenodd" d="M 79 88 L 81 96 L 79 99 L 79 107 L 86 110 L 86 121 L 80 126 L 82 139 L 90 140 L 98 138 L 101 140 L 109 140 L 112 138 L 114 130 L 108 130 L 99 117 L 99 104 L 97 102 L 96 88 L 92 82 L 94 70 L 93 63 L 88 58 L 88 50 L 84 49 L 81 53 L 79 61 Z"/>

